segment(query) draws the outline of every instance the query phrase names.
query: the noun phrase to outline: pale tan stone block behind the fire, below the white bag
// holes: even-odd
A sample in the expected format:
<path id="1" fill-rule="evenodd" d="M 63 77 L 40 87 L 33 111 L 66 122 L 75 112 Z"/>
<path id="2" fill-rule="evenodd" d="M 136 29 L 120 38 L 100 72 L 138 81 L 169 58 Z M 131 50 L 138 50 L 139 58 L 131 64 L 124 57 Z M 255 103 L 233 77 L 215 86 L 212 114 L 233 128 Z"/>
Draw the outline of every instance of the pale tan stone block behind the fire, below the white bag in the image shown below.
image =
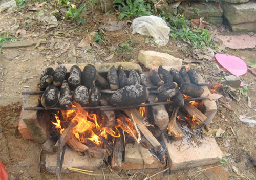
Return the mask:
<path id="1" fill-rule="evenodd" d="M 148 69 L 159 65 L 182 65 L 182 59 L 176 58 L 167 53 L 160 53 L 156 51 L 141 50 L 139 52 L 138 60 Z"/>

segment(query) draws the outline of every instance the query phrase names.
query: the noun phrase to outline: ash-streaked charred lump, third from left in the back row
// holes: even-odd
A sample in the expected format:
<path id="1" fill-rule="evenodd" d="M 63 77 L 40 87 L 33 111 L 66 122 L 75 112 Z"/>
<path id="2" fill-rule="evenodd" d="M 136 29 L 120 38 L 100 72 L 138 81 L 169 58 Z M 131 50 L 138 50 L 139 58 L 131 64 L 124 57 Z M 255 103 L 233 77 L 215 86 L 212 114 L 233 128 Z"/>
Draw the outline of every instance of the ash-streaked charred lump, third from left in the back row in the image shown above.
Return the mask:
<path id="1" fill-rule="evenodd" d="M 70 68 L 69 85 L 71 87 L 77 87 L 81 84 L 82 71 L 77 65 L 73 65 Z"/>

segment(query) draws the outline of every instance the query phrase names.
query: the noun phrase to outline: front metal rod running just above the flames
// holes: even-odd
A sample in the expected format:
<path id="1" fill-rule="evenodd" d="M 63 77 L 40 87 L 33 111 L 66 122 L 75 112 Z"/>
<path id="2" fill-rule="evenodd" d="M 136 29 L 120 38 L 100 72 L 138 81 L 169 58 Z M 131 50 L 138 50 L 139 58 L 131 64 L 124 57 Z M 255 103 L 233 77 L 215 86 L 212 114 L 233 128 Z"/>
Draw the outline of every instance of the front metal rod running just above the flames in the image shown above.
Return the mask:
<path id="1" fill-rule="evenodd" d="M 200 101 L 203 99 L 209 99 L 208 96 L 206 97 L 198 97 L 198 98 L 189 98 L 185 99 L 184 101 Z M 113 107 L 113 106 L 96 106 L 96 107 L 81 107 L 82 109 L 99 109 L 102 111 L 110 111 L 110 110 L 121 110 L 121 109 L 129 109 L 129 108 L 138 108 L 138 107 L 147 107 L 147 106 L 157 106 L 157 105 L 166 105 L 166 104 L 174 104 L 174 101 L 164 101 L 164 102 L 154 102 L 154 103 L 146 103 L 146 104 L 139 104 L 136 106 L 121 106 L 121 107 Z M 60 107 L 52 107 L 48 110 L 70 110 L 70 109 L 81 109 L 78 107 L 70 107 L 70 108 L 60 108 Z M 46 110 L 44 107 L 25 107 L 24 110 Z"/>

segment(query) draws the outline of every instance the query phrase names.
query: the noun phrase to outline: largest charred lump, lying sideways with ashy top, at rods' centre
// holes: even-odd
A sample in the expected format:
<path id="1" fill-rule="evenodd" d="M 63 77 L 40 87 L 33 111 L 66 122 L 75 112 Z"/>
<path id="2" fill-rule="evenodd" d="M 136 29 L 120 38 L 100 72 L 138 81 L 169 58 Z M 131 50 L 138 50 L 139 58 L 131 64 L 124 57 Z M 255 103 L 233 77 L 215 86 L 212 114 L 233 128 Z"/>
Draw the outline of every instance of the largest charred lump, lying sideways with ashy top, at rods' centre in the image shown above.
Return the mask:
<path id="1" fill-rule="evenodd" d="M 135 84 L 118 89 L 109 99 L 109 104 L 117 106 L 138 105 L 147 100 L 148 91 L 145 86 Z"/>

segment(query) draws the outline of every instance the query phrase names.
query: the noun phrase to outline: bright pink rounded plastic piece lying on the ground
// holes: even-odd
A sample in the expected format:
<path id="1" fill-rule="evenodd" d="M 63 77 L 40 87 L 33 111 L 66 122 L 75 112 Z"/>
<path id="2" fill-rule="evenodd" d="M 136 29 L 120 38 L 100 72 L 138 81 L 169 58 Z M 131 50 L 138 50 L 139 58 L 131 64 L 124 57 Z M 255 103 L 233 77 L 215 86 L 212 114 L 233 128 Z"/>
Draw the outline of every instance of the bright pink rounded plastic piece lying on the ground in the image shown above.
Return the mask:
<path id="1" fill-rule="evenodd" d="M 216 60 L 233 75 L 239 77 L 247 72 L 247 65 L 237 56 L 230 56 L 225 54 L 216 54 Z"/>

